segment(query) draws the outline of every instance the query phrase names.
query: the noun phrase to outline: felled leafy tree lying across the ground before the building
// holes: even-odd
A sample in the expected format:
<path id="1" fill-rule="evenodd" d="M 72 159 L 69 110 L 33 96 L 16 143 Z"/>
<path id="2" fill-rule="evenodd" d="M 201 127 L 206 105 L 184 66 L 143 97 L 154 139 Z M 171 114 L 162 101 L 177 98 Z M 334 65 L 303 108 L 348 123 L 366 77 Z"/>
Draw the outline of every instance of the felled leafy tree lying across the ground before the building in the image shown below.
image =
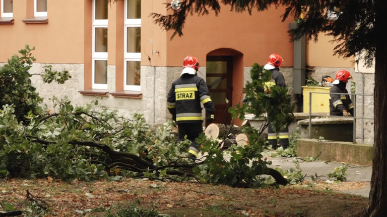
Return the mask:
<path id="1" fill-rule="evenodd" d="M 13 65 L 28 66 L 30 58 L 25 51 L 22 58 L 13 58 Z M 11 69 L 12 65 L 5 65 L 0 75 L 10 76 Z M 29 67 L 23 69 L 28 73 Z M 21 83 L 28 83 L 27 73 L 19 73 L 26 76 Z M 12 81 L 8 77 L 0 80 Z M 234 135 L 236 144 L 223 150 L 218 141 L 202 134 L 198 144 L 206 156 L 191 161 L 187 154 L 190 142 L 176 141 L 171 122 L 150 126 L 141 114 L 133 114 L 131 119 L 118 117 L 115 111 L 98 105 L 98 100 L 74 106 L 66 97 L 53 97 L 51 111 L 45 105 L 30 104 L 35 101 L 27 95 L 23 99 L 25 107 L 32 106 L 33 111 L 19 113 L 13 104 L 4 104 L 0 110 L 1 178 L 117 180 L 128 176 L 258 187 L 266 181 L 261 175 L 267 174 L 277 184 L 287 184 L 279 172 L 268 167 L 270 162 L 262 159 L 264 141 L 256 133 L 239 139 L 244 134 L 241 129 L 225 128 L 223 134 Z M 240 145 L 242 141 L 244 145 Z"/>

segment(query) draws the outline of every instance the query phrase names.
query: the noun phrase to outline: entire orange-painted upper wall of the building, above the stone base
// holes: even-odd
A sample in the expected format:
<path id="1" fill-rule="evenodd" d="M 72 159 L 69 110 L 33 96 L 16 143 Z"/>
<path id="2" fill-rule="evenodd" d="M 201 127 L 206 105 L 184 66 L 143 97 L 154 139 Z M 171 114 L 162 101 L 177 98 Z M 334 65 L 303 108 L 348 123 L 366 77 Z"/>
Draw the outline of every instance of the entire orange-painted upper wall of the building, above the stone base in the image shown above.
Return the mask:
<path id="1" fill-rule="evenodd" d="M 120 2 L 113 3 L 112 7 L 115 4 L 123 5 Z M 85 14 L 85 6 L 91 6 L 91 1 L 48 0 L 48 23 L 25 24 L 22 20 L 33 15 L 33 0 L 14 1 L 14 24 L 1 26 L 0 38 L 7 43 L 2 43 L 0 61 L 5 62 L 28 44 L 36 47 L 33 54 L 38 63 L 84 63 L 86 56 L 89 56 L 85 54 L 85 49 L 90 47 L 90 42 L 85 38 L 85 32 L 88 31 L 85 30 L 84 17 L 90 14 Z M 115 11 L 118 10 L 110 9 L 110 12 Z M 249 16 L 246 12 L 230 12 L 228 6 L 222 6 L 218 17 L 213 12 L 206 16 L 189 16 L 183 29 L 184 35 L 175 36 L 172 40 L 172 32 L 166 32 L 154 24 L 149 16 L 151 13 L 171 12 L 167 12 L 159 0 L 147 2 L 147 6 L 142 7 L 142 65 L 181 66 L 182 59 L 191 54 L 197 56 L 205 66 L 206 55 L 219 48 L 241 52 L 244 66 L 251 66 L 254 62 L 264 64 L 268 55 L 274 52 L 283 56 L 284 67 L 293 64 L 293 44 L 287 32 L 292 19 L 281 21 L 283 8 L 253 12 Z M 316 67 L 353 67 L 352 59 L 343 60 L 333 55 L 335 44 L 330 40 L 331 37 L 320 34 L 317 43 L 307 43 L 307 64 Z M 118 61 L 110 58 L 116 55 L 117 52 L 109 53 L 109 64 Z"/>

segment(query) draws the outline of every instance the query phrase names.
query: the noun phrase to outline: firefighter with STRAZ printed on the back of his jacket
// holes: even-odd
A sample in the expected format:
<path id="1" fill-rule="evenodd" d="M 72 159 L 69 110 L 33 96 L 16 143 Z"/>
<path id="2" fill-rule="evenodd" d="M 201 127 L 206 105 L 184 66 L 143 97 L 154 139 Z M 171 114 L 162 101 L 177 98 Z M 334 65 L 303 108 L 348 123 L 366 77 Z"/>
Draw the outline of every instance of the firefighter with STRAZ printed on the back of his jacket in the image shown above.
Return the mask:
<path id="1" fill-rule="evenodd" d="M 183 61 L 180 77 L 173 81 L 168 93 L 167 107 L 177 124 L 179 139 L 185 136 L 191 141 L 189 158 L 198 157 L 199 145 L 195 139 L 203 132 L 202 106 L 207 113 L 207 121 L 214 121 L 215 107 L 211 101 L 206 82 L 197 75 L 199 62 L 193 56 L 187 56 Z"/>

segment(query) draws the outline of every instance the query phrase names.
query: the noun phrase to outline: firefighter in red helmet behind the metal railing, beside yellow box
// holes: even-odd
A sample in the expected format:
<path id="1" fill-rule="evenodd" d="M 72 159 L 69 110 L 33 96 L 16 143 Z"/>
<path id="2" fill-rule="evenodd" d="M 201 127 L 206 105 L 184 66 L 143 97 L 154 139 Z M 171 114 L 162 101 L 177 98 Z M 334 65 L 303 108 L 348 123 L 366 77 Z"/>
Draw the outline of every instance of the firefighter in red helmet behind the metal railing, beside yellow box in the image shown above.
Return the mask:
<path id="1" fill-rule="evenodd" d="M 336 73 L 336 79 L 330 93 L 348 93 L 346 86 L 348 79 L 352 76 L 347 70 L 340 70 Z M 329 108 L 331 116 L 353 116 L 353 103 L 347 94 L 329 94 Z"/>

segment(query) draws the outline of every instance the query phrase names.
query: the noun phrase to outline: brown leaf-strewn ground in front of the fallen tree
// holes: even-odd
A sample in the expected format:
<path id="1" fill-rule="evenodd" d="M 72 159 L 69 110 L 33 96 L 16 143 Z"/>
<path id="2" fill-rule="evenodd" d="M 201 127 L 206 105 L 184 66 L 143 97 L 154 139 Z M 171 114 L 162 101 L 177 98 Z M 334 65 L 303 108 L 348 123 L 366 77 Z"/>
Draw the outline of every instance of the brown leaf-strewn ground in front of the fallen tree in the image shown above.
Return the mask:
<path id="1" fill-rule="evenodd" d="M 251 189 L 144 179 L 117 182 L 3 179 L 0 211 L 15 206 L 24 216 L 34 216 L 31 213 L 36 214 L 39 209 L 41 216 L 108 216 L 109 207 L 125 205 L 153 210 L 159 216 L 360 216 L 367 198 L 337 191 L 365 184 L 313 182 Z"/>

